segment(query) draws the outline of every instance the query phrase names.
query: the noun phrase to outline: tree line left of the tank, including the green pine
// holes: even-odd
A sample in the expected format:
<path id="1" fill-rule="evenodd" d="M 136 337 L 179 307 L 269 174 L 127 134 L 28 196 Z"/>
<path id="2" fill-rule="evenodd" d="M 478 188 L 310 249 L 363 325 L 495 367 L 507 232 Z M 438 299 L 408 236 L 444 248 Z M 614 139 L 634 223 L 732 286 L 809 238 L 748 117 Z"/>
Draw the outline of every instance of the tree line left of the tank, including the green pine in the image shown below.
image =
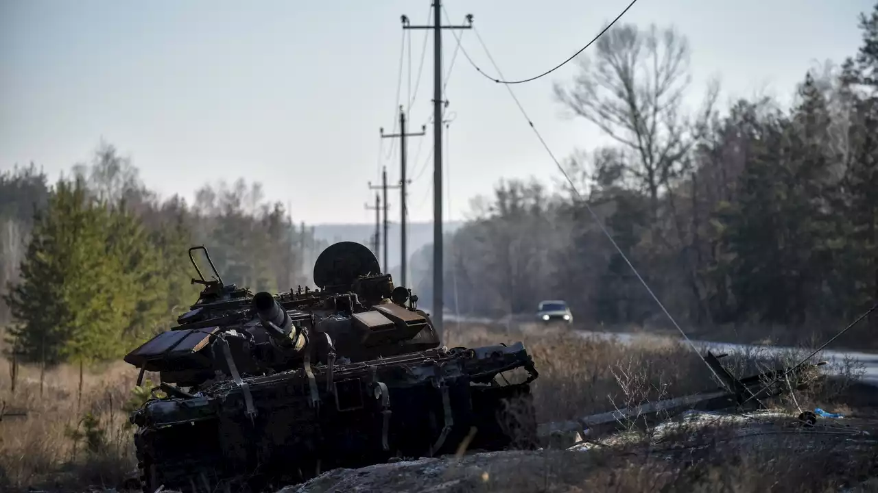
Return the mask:
<path id="1" fill-rule="evenodd" d="M 325 247 L 258 183 L 162 199 L 106 143 L 52 185 L 34 165 L 0 174 L 0 227 L 6 350 L 48 365 L 117 359 L 167 330 L 198 297 L 193 245 L 224 282 L 272 291 L 308 283 Z"/>

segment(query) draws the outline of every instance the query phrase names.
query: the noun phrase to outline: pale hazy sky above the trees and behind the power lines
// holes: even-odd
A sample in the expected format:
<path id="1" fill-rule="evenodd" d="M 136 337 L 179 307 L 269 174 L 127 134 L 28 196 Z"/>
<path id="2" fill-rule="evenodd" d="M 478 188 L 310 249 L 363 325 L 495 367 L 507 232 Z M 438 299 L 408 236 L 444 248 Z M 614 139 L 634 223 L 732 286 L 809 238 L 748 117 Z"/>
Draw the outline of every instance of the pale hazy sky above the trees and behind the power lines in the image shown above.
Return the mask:
<path id="1" fill-rule="evenodd" d="M 563 61 L 628 2 L 445 6 L 456 23 L 472 13 L 504 75 L 519 79 Z M 787 97 L 810 66 L 855 52 L 857 16 L 872 4 L 639 0 L 623 21 L 675 25 L 686 34 L 695 87 L 720 75 L 726 98 L 766 88 Z M 103 138 L 130 155 L 163 196 L 191 199 L 205 182 L 244 176 L 291 204 L 296 220 L 371 222 L 363 203 L 374 192 L 366 183 L 378 182 L 379 163 L 392 180 L 399 176 L 390 140 L 378 154 L 378 127 L 390 132 L 397 118 L 399 16 L 420 25 L 429 7 L 428 0 L 0 0 L 0 169 L 34 161 L 54 180 L 88 160 Z M 412 86 L 425 32 L 411 34 Z M 432 112 L 430 36 L 413 131 Z M 471 32 L 463 43 L 493 73 Z M 443 32 L 443 46 L 447 67 L 455 47 L 450 32 Z M 590 125 L 564 118 L 553 100 L 552 82 L 568 81 L 576 70 L 569 64 L 514 88 L 559 156 L 600 140 Z M 447 99 L 455 117 L 446 163 L 451 218 L 461 218 L 471 196 L 490 191 L 500 177 L 549 182 L 557 175 L 507 91 L 460 54 Z M 412 220 L 432 218 L 431 146 L 430 127 L 410 142 Z M 399 195 L 391 193 L 396 218 Z"/>

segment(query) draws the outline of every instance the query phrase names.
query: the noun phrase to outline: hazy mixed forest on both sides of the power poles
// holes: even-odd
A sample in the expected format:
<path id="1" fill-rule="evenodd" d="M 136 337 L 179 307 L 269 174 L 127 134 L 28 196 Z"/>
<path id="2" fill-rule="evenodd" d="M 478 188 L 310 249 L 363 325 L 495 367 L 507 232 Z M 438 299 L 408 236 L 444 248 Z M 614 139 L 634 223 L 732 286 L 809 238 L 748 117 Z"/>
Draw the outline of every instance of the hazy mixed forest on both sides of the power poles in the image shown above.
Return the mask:
<path id="1" fill-rule="evenodd" d="M 878 4 L 856 20 L 859 50 L 802 74 L 788 107 L 723 107 L 718 83 L 696 91 L 673 28 L 610 29 L 554 95 L 614 144 L 574 153 L 551 186 L 501 181 L 475 197 L 444 240 L 446 306 L 498 317 L 560 298 L 582 328 L 666 327 L 627 258 L 705 337 L 800 339 L 852 321 L 878 297 Z M 695 92 L 707 96 L 692 109 Z M 193 204 L 161 198 L 107 143 L 54 184 L 35 165 L 5 171 L 7 351 L 47 364 L 119 358 L 191 304 L 185 251 L 198 244 L 224 280 L 253 290 L 309 283 L 325 247 L 258 183 L 205 184 Z M 430 249 L 411 260 L 421 300 L 432 297 Z"/>

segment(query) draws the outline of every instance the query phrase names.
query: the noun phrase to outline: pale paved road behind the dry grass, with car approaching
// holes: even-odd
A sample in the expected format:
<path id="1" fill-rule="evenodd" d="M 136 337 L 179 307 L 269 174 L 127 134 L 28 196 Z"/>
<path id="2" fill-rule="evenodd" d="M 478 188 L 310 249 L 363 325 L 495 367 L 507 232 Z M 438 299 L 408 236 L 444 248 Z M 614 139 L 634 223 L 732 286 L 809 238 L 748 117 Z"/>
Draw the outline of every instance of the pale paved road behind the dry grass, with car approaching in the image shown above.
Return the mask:
<path id="1" fill-rule="evenodd" d="M 470 317 L 460 317 L 457 318 L 452 314 L 446 314 L 444 317 L 445 320 L 452 321 L 461 321 L 468 323 L 476 323 L 476 324 L 489 324 L 489 323 L 502 323 L 501 320 L 494 320 L 491 318 L 470 318 Z M 599 337 L 599 338 L 618 338 L 623 342 L 630 342 L 636 339 L 650 339 L 657 338 L 657 336 L 642 334 L 642 333 L 624 333 L 624 332 L 587 332 L 587 331 L 577 331 L 578 335 L 582 337 Z M 682 339 L 682 338 L 680 338 Z M 752 352 L 752 351 L 760 351 L 766 352 L 768 354 L 777 354 L 784 353 L 793 350 L 791 347 L 780 347 L 780 346 L 749 346 L 745 344 L 730 344 L 726 342 L 712 342 L 705 340 L 693 340 L 692 341 L 696 347 L 700 349 L 707 350 L 714 353 L 743 353 L 743 352 Z M 802 356 L 803 357 L 803 356 Z M 854 351 L 831 351 L 824 350 L 821 354 L 821 357 L 824 361 L 844 361 L 846 358 L 859 361 L 863 369 L 865 371 L 863 375 L 863 382 L 869 383 L 878 387 L 878 354 L 870 354 L 870 353 L 859 353 Z"/>

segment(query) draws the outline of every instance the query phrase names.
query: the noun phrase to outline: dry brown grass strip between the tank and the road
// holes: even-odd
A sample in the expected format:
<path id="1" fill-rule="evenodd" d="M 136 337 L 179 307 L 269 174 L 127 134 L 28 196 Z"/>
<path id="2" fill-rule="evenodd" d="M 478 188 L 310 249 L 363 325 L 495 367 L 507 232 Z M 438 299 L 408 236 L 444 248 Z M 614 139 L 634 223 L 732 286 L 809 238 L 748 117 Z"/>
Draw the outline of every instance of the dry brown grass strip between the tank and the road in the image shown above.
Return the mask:
<path id="1" fill-rule="evenodd" d="M 614 408 L 644 404 L 668 397 L 680 397 L 716 389 L 719 385 L 704 361 L 691 347 L 676 339 L 584 338 L 565 328 L 533 325 L 453 325 L 447 328 L 447 346 L 481 346 L 524 342 L 533 356 L 540 377 L 533 384 L 540 422 L 586 416 Z M 767 369 L 792 366 L 810 352 L 789 350 L 771 354 L 767 349 L 750 349 L 723 358 L 723 366 L 738 377 Z M 820 354 L 814 361 L 819 361 Z M 839 404 L 861 368 L 851 361 L 831 363 L 843 377 L 815 379 L 798 375 L 811 387 L 796 391 L 778 403 L 802 408 Z M 795 400 L 792 398 L 795 397 Z"/>

